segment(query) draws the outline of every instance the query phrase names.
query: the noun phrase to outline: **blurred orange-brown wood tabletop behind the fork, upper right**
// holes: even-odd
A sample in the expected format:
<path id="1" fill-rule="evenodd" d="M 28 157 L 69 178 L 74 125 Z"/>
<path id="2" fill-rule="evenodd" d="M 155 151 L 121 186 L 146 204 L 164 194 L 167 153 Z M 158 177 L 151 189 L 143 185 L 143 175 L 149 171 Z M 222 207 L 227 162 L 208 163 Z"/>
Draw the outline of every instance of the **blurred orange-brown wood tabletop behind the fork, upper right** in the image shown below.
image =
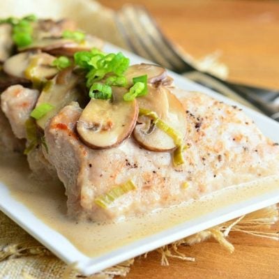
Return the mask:
<path id="1" fill-rule="evenodd" d="M 279 1 L 99 0 L 144 5 L 172 43 L 195 59 L 217 52 L 229 80 L 279 89 Z"/>

